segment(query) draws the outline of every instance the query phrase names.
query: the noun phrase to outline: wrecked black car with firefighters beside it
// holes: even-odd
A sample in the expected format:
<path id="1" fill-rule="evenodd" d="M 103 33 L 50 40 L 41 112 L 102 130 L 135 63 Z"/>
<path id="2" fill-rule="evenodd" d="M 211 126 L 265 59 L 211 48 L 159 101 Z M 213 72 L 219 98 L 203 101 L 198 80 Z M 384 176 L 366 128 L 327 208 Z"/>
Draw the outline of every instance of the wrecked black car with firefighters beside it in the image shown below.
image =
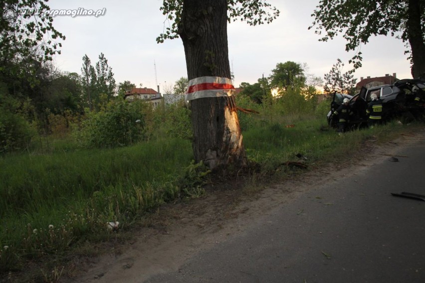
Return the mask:
<path id="1" fill-rule="evenodd" d="M 412 88 L 417 86 L 422 95 L 419 102 L 415 101 L 416 96 Z M 359 128 L 366 126 L 368 116 L 366 109 L 371 102 L 371 95 L 376 94 L 383 105 L 384 121 L 389 121 L 396 117 L 406 119 L 423 119 L 425 114 L 425 79 L 405 79 L 395 82 L 393 85 L 381 85 L 366 89 L 362 87 L 355 96 L 335 93 L 331 102 L 331 111 L 327 115 L 328 124 L 331 127 L 338 127 L 338 116 L 332 115 L 344 98 L 349 99 L 349 105 L 353 111 L 351 119 L 348 121 L 348 128 Z"/>

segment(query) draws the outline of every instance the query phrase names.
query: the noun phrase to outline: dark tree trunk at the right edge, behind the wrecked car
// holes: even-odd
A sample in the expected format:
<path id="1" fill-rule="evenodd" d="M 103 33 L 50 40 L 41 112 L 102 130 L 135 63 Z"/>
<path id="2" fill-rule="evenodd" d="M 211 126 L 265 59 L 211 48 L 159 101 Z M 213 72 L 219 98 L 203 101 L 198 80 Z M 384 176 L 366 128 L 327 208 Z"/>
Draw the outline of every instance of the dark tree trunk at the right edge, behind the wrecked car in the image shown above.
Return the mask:
<path id="1" fill-rule="evenodd" d="M 412 76 L 425 77 L 425 43 L 421 25 L 420 0 L 409 0 L 407 33 L 412 49 Z"/>

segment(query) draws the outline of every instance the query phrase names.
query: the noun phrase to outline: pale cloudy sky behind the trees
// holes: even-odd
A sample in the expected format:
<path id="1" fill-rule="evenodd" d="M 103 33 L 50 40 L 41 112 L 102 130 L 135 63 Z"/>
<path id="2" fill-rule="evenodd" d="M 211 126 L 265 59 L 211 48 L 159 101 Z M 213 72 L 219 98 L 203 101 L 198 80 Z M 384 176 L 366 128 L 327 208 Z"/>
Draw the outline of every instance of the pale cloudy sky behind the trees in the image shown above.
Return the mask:
<path id="1" fill-rule="evenodd" d="M 280 10 L 270 24 L 249 26 L 244 22 L 227 25 L 229 63 L 234 86 L 241 82 L 254 84 L 268 77 L 278 63 L 293 61 L 306 64 L 307 73 L 323 78 L 337 59 L 344 71 L 351 69 L 348 60 L 354 51 L 345 51 L 342 35 L 328 42 L 318 41 L 311 14 L 319 0 L 269 0 Z M 185 51 L 180 38 L 158 44 L 156 38 L 169 26 L 160 11 L 162 0 L 50 0 L 51 9 L 105 8 L 104 15 L 55 16 L 53 26 L 66 36 L 61 54 L 54 64 L 61 71 L 81 74 L 85 54 L 94 66 L 103 53 L 112 67 L 116 83 L 130 81 L 137 87 L 170 89 L 181 77 L 187 77 Z M 410 63 L 404 54 L 402 40 L 394 37 L 373 37 L 361 47 L 363 66 L 354 76 L 380 77 L 397 74 L 411 78 Z"/>

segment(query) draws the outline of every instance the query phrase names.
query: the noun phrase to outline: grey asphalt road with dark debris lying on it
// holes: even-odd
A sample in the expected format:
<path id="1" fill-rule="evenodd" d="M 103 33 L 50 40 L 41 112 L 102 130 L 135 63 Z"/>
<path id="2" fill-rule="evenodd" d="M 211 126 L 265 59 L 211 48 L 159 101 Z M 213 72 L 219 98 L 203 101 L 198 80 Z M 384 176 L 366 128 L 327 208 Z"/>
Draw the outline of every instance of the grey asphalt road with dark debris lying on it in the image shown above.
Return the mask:
<path id="1" fill-rule="evenodd" d="M 425 141 L 282 204 L 145 283 L 424 283 Z M 402 157 L 406 156 L 406 157 Z"/>

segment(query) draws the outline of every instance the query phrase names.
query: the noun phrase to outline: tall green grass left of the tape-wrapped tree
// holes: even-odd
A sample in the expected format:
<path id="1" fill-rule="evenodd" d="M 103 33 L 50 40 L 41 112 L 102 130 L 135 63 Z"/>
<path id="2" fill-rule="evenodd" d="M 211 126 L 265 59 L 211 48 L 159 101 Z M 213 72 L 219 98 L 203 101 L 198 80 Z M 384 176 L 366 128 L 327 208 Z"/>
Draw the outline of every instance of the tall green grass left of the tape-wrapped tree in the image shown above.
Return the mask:
<path id="1" fill-rule="evenodd" d="M 176 180 L 192 158 L 190 142 L 177 139 L 2 157 L 0 247 L 9 248 L 2 251 L 1 271 L 16 262 L 4 262 L 4 254 L 37 257 L 65 250 L 106 230 L 107 221 L 128 223 L 175 198 Z M 55 227 L 55 237 L 49 225 Z"/>

